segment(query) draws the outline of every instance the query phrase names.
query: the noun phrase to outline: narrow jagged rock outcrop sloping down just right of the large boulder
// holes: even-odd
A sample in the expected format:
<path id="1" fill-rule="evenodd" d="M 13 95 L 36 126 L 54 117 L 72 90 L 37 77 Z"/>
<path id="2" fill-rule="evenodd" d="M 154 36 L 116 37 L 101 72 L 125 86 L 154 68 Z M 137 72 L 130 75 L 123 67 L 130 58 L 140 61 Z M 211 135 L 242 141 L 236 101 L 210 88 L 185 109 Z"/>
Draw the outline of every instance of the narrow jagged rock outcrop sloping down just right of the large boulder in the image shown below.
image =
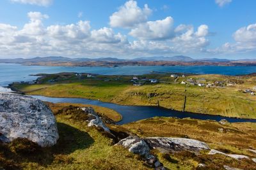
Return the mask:
<path id="1" fill-rule="evenodd" d="M 110 130 L 108 129 L 108 127 L 104 124 L 104 122 L 102 122 L 101 118 L 99 117 L 99 115 L 97 115 L 97 113 L 95 113 L 95 111 L 93 110 L 93 108 L 81 108 L 85 113 L 87 113 L 90 117 L 89 123 L 88 123 L 88 127 L 100 127 L 102 129 L 104 129 L 104 131 L 109 132 Z"/>

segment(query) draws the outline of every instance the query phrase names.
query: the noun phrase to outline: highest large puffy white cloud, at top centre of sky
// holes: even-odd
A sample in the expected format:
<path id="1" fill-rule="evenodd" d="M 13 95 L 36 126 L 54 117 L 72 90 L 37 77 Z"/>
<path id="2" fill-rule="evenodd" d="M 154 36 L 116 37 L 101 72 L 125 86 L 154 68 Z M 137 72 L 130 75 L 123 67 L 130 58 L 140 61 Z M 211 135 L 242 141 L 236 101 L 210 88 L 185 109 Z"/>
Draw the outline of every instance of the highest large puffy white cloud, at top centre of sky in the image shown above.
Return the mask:
<path id="1" fill-rule="evenodd" d="M 131 28 L 141 22 L 146 22 L 152 10 L 145 4 L 144 8 L 138 7 L 136 1 L 127 1 L 118 11 L 109 17 L 111 27 Z"/>

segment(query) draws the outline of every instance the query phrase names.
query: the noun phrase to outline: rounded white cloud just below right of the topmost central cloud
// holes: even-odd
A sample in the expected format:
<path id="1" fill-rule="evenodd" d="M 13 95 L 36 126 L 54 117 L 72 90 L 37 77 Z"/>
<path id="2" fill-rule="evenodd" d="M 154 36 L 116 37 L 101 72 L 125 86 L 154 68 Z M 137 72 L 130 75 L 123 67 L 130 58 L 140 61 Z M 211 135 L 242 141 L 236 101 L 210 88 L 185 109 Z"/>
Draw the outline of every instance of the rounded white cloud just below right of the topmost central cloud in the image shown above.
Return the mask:
<path id="1" fill-rule="evenodd" d="M 164 20 L 139 24 L 129 34 L 138 39 L 167 39 L 173 36 L 172 26 L 173 18 L 166 17 Z"/>

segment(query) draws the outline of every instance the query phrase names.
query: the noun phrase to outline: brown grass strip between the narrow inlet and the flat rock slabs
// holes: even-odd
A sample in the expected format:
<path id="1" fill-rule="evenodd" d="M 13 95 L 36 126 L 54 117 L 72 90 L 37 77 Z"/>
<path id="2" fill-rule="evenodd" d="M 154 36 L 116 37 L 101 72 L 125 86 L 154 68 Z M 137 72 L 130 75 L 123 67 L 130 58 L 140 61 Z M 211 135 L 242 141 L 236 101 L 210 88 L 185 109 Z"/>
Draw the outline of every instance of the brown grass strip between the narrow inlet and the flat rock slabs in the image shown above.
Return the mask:
<path id="1" fill-rule="evenodd" d="M 256 127 L 253 123 L 221 125 L 216 121 L 157 117 L 122 125 L 142 137 L 188 136 L 209 144 L 223 143 L 239 148 L 256 148 Z M 219 129 L 223 129 L 220 132 Z"/>

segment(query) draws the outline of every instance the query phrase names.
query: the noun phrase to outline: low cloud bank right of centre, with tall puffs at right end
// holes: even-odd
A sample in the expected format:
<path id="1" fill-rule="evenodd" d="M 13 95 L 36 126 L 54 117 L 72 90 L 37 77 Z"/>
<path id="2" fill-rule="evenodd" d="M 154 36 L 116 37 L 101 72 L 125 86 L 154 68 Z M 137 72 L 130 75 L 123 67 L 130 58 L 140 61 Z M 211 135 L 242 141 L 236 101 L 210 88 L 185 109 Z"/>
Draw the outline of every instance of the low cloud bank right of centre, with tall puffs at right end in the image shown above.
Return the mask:
<path id="1" fill-rule="evenodd" d="M 204 29 L 203 29 L 204 28 Z M 206 31 L 207 30 L 207 31 Z M 191 25 L 179 25 L 173 31 L 173 37 L 164 41 L 141 39 L 131 43 L 131 50 L 137 55 L 150 53 L 156 55 L 170 55 L 170 53 L 200 53 L 205 52 L 209 40 L 208 26 L 200 25 L 197 31 Z"/>

